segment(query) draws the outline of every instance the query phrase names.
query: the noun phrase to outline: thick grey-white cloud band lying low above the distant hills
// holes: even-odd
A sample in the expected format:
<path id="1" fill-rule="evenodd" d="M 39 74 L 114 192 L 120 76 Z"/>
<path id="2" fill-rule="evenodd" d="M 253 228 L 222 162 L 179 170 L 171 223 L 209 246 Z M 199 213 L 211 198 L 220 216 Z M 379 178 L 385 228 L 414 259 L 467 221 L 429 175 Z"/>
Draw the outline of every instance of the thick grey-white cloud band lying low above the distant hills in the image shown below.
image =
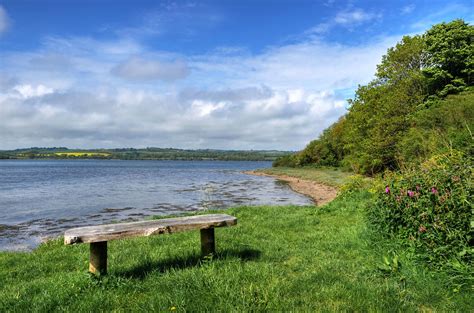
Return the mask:
<path id="1" fill-rule="evenodd" d="M 240 99 L 235 96 L 239 90 L 229 89 L 210 97 L 205 91 L 177 97 L 130 90 L 101 96 L 12 95 L 0 106 L 0 139 L 7 147 L 20 141 L 83 147 L 288 149 L 301 147 L 344 112 L 331 93 L 266 88 L 249 88 Z"/>

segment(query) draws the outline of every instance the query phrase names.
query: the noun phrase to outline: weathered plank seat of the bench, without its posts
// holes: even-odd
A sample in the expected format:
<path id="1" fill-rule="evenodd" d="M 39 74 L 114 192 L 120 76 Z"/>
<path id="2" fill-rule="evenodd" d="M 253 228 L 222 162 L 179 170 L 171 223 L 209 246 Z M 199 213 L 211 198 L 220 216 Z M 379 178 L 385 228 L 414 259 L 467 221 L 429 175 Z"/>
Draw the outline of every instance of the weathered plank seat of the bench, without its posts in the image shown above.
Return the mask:
<path id="1" fill-rule="evenodd" d="M 116 239 L 171 234 L 193 229 L 233 226 L 237 218 L 227 214 L 207 214 L 144 222 L 79 227 L 67 230 L 64 244 L 93 243 Z"/>

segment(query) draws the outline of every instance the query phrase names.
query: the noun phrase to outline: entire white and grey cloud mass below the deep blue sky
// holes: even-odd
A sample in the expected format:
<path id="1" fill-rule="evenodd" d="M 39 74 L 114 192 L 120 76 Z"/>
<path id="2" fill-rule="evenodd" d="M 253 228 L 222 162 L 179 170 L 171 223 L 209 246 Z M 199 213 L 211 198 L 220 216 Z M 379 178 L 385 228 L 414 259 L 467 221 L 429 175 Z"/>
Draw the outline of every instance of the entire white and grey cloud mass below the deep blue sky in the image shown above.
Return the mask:
<path id="1" fill-rule="evenodd" d="M 133 40 L 49 38 L 37 51 L 0 52 L 10 77 L 0 80 L 0 149 L 301 149 L 344 114 L 341 94 L 368 82 L 397 39 L 184 56 Z"/>

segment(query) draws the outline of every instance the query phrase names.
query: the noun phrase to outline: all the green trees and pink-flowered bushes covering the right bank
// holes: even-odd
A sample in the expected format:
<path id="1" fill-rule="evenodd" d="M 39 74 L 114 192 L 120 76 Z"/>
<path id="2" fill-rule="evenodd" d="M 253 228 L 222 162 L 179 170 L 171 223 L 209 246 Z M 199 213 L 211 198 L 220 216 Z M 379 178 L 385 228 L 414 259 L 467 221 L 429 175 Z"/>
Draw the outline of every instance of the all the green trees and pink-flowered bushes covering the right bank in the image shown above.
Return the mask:
<path id="1" fill-rule="evenodd" d="M 474 26 L 462 20 L 404 37 L 345 116 L 273 164 L 354 171 L 344 190 L 370 191 L 368 227 L 471 290 L 473 38 Z"/>

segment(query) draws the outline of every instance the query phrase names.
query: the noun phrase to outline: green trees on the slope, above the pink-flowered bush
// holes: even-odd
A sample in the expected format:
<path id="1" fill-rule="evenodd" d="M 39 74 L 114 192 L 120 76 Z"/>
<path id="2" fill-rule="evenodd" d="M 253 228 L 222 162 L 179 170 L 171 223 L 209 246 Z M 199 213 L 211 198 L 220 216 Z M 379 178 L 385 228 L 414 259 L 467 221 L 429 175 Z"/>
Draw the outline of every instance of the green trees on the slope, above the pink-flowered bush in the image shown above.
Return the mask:
<path id="1" fill-rule="evenodd" d="M 462 20 L 403 37 L 383 56 L 375 79 L 359 86 L 348 113 L 283 165 L 376 175 L 452 148 L 472 152 L 472 38 L 474 27 Z"/>

